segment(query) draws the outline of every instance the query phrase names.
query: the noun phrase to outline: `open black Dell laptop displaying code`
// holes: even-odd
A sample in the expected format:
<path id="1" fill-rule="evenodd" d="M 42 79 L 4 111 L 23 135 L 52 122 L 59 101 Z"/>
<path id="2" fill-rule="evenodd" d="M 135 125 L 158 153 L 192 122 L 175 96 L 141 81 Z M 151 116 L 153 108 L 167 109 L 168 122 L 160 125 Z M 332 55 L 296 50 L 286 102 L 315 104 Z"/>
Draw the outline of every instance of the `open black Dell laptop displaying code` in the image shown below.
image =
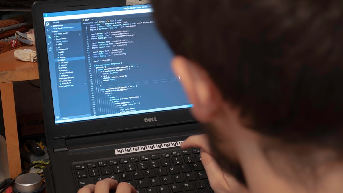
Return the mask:
<path id="1" fill-rule="evenodd" d="M 33 7 L 50 166 L 49 193 L 76 193 L 105 178 L 137 192 L 212 192 L 192 104 L 152 6 L 41 1 Z"/>

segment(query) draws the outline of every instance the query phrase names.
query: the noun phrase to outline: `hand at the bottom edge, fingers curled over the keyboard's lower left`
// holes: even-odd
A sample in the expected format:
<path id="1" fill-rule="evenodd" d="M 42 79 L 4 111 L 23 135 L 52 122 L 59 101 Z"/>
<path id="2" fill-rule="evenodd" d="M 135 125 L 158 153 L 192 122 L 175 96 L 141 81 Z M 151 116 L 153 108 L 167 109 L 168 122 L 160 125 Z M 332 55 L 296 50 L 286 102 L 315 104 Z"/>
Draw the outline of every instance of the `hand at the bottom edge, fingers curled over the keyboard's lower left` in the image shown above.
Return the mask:
<path id="1" fill-rule="evenodd" d="M 110 190 L 116 190 L 116 193 L 136 193 L 132 185 L 117 180 L 106 178 L 98 181 L 95 185 L 88 184 L 81 188 L 78 193 L 109 193 Z"/>

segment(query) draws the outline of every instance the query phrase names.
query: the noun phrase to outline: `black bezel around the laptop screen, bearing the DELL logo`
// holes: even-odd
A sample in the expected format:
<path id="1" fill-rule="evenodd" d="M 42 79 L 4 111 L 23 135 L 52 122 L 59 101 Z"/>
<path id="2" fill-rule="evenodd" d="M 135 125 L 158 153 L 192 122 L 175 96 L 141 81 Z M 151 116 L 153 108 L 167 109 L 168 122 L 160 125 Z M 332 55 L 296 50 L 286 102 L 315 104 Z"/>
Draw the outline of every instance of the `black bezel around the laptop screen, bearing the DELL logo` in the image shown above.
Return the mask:
<path id="1" fill-rule="evenodd" d="M 125 0 L 99 2 L 92 0 L 41 1 L 32 6 L 44 122 L 48 139 L 111 133 L 195 121 L 189 108 L 186 108 L 55 124 L 43 13 L 121 6 L 126 6 Z M 156 117 L 157 121 L 144 122 L 144 119 L 149 117 Z"/>

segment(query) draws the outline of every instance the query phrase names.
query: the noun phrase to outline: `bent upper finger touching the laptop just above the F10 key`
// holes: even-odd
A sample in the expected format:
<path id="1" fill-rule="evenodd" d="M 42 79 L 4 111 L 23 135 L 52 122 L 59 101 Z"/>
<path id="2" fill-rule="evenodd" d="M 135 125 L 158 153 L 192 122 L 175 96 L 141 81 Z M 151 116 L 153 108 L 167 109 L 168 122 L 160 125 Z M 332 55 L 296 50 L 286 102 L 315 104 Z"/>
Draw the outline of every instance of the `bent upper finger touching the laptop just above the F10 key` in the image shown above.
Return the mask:
<path id="1" fill-rule="evenodd" d="M 184 142 L 181 143 L 182 149 L 188 149 L 192 147 L 201 148 L 208 153 L 211 152 L 209 140 L 205 134 L 189 136 Z"/>

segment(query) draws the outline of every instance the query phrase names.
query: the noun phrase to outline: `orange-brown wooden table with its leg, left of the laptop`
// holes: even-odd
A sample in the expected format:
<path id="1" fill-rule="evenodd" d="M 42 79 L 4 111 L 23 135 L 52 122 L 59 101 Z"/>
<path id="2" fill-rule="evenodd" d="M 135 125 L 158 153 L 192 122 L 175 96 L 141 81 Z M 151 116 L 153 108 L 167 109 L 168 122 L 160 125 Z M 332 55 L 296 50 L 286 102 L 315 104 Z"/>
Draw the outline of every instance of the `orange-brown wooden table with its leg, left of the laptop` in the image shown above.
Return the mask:
<path id="1" fill-rule="evenodd" d="M 18 49 L 36 50 L 35 46 Z M 39 79 L 37 63 L 17 60 L 13 53 L 14 50 L 0 54 L 0 91 L 11 178 L 15 178 L 21 172 L 13 82 Z"/>

